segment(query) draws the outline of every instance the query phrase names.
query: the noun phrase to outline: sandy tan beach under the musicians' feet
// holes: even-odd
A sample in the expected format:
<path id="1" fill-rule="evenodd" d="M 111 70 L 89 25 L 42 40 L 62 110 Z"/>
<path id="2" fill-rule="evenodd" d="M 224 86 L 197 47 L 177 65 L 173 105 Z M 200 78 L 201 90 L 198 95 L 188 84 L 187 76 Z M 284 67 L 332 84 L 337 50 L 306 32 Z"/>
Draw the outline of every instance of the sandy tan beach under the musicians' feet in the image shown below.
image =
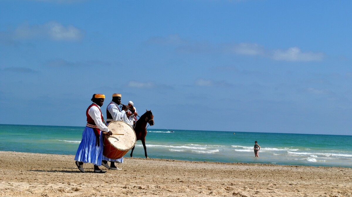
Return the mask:
<path id="1" fill-rule="evenodd" d="M 74 155 L 0 152 L 0 196 L 352 196 L 352 169 L 125 158 L 78 171 Z M 105 169 L 101 166 L 101 169 Z"/>

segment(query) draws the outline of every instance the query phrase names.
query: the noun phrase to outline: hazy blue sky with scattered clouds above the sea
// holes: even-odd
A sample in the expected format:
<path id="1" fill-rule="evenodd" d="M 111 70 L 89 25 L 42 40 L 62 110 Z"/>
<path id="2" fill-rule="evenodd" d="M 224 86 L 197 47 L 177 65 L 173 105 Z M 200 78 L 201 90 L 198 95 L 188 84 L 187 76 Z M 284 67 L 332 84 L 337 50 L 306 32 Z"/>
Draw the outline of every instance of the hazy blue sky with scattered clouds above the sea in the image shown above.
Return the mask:
<path id="1" fill-rule="evenodd" d="M 156 129 L 350 135 L 351 7 L 2 0 L 0 123 L 84 126 L 120 93 Z"/>

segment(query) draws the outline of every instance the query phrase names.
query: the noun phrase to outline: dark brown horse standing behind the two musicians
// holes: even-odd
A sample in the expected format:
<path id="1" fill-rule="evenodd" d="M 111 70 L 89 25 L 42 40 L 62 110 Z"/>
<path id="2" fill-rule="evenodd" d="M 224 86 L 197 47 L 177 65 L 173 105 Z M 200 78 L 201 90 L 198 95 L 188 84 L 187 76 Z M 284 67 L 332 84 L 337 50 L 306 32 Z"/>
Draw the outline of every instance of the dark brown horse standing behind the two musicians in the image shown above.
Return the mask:
<path id="1" fill-rule="evenodd" d="M 153 120 L 153 114 L 152 111 L 148 111 L 144 113 L 136 122 L 136 126 L 134 126 L 134 132 L 136 133 L 136 140 L 142 141 L 143 148 L 144 148 L 144 155 L 145 158 L 148 158 L 147 156 L 147 148 L 145 147 L 145 136 L 147 135 L 147 123 L 149 123 L 150 126 L 154 125 L 154 120 Z M 130 156 L 132 157 L 132 153 L 134 150 L 134 146 L 132 148 Z"/>

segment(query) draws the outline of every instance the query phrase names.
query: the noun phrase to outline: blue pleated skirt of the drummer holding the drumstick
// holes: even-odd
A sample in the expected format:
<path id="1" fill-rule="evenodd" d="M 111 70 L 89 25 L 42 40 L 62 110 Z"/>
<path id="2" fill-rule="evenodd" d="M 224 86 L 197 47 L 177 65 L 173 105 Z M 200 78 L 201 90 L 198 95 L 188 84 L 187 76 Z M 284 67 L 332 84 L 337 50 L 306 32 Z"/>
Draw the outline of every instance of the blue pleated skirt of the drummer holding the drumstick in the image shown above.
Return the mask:
<path id="1" fill-rule="evenodd" d="M 103 156 L 103 132 L 100 131 L 100 146 L 95 146 L 96 138 L 93 128 L 86 127 L 82 133 L 82 140 L 78 146 L 75 160 L 83 163 L 101 165 Z"/>

